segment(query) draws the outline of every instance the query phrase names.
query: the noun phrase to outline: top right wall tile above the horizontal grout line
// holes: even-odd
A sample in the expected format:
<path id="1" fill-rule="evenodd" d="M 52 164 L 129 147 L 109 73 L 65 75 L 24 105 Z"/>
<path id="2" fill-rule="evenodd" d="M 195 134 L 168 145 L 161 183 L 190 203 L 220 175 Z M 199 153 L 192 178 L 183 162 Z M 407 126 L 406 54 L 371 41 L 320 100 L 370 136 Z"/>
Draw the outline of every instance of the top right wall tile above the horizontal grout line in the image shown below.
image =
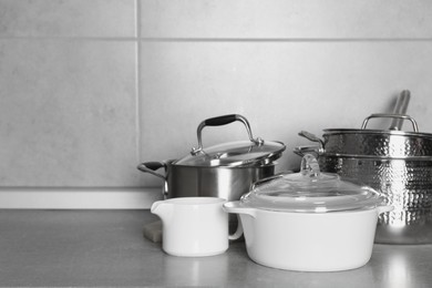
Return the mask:
<path id="1" fill-rule="evenodd" d="M 426 0 L 142 0 L 151 38 L 424 39 Z"/>

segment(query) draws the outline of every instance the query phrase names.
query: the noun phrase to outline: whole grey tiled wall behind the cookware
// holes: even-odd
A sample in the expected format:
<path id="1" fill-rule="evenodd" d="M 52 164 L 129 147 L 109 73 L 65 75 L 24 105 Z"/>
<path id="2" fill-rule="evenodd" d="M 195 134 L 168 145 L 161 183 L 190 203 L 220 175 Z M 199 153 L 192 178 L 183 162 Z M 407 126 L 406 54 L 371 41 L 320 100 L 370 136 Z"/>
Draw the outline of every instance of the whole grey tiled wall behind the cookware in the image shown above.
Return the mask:
<path id="1" fill-rule="evenodd" d="M 404 89 L 432 132 L 431 13 L 426 0 L 0 0 L 0 187 L 146 193 L 161 181 L 138 162 L 185 155 L 198 123 L 227 113 L 285 142 L 279 169 L 296 168 L 300 130 L 359 127 Z"/>

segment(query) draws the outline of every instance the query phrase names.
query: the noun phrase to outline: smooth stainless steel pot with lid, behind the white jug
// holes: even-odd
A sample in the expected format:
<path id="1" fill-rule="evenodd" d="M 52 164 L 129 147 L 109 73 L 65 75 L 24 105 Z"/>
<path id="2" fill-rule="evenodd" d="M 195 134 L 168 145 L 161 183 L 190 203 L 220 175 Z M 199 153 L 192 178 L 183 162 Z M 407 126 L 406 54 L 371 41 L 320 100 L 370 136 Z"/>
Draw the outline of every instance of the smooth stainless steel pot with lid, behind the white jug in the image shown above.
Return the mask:
<path id="1" fill-rule="evenodd" d="M 229 142 L 205 148 L 202 130 L 241 122 L 248 141 Z M 214 196 L 227 200 L 239 199 L 249 192 L 253 183 L 275 174 L 275 160 L 281 156 L 281 142 L 254 138 L 248 121 L 238 114 L 224 115 L 203 121 L 197 128 L 198 147 L 183 158 L 162 162 L 145 162 L 138 169 L 164 179 L 163 195 L 166 198 L 188 196 Z M 165 173 L 155 171 L 164 168 Z"/>

